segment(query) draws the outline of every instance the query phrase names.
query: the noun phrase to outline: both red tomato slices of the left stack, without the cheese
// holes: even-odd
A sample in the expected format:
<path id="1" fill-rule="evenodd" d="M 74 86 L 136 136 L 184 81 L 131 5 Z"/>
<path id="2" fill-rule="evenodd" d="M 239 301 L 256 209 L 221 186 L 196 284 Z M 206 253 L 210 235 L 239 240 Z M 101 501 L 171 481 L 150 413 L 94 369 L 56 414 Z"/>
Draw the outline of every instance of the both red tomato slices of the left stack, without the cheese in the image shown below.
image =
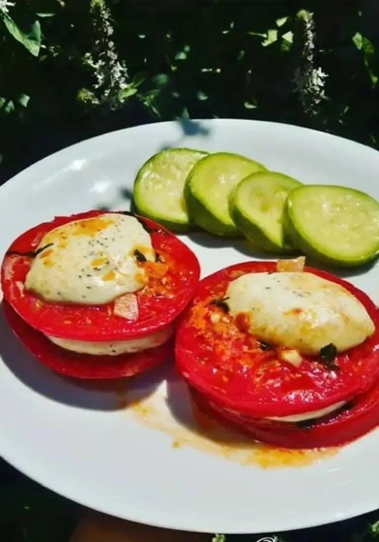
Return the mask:
<path id="1" fill-rule="evenodd" d="M 184 243 L 159 224 L 135 215 L 149 231 L 157 255 L 147 285 L 136 292 L 137 319 L 114 314 L 114 302 L 97 306 L 53 304 L 24 288 L 35 251 L 45 234 L 63 224 L 102 214 L 102 211 L 88 211 L 57 217 L 31 228 L 12 243 L 2 264 L 3 309 L 14 332 L 42 363 L 78 378 L 135 375 L 167 358 L 172 353 L 173 342 L 169 340 L 135 353 L 99 356 L 70 352 L 53 344 L 45 335 L 104 342 L 143 338 L 174 322 L 192 298 L 200 275 L 198 260 Z M 160 265 L 164 266 L 164 273 Z"/>

